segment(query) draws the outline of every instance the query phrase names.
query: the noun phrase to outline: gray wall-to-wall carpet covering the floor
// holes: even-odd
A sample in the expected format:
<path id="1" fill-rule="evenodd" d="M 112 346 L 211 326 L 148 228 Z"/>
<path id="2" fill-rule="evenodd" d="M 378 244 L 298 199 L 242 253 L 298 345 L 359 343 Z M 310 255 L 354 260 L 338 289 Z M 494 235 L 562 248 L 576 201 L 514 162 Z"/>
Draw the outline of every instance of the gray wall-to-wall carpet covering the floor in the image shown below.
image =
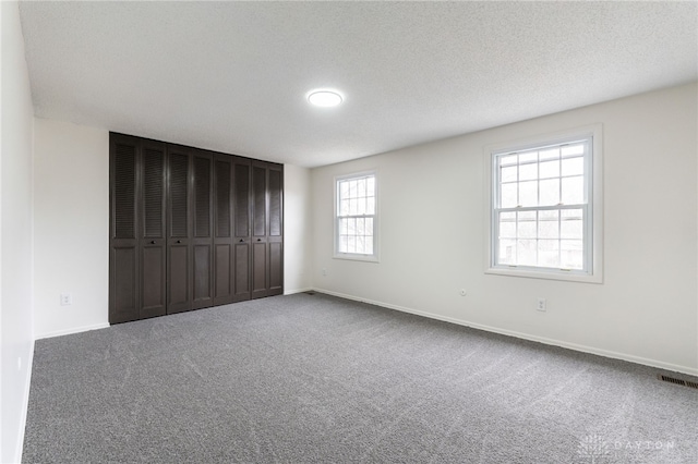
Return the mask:
<path id="1" fill-rule="evenodd" d="M 698 463 L 698 390 L 658 371 L 277 296 L 38 340 L 23 459 Z"/>

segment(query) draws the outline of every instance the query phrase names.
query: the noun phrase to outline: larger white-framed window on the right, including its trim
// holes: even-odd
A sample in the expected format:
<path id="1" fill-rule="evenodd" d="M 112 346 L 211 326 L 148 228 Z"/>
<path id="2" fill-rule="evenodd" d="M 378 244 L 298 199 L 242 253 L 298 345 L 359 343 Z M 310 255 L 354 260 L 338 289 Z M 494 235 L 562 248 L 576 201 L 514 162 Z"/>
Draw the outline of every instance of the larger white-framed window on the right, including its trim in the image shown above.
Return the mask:
<path id="1" fill-rule="evenodd" d="M 488 150 L 488 271 L 601 281 L 601 127 Z"/>

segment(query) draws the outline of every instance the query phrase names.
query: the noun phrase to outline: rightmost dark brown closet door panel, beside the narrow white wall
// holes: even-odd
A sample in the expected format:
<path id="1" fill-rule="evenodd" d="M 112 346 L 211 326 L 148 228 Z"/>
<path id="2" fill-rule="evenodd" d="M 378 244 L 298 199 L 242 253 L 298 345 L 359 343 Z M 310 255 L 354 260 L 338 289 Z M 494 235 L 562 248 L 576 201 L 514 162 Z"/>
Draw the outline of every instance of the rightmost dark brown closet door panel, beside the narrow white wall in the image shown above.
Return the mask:
<path id="1" fill-rule="evenodd" d="M 284 293 L 284 168 L 268 169 L 268 292 L 269 295 Z"/>

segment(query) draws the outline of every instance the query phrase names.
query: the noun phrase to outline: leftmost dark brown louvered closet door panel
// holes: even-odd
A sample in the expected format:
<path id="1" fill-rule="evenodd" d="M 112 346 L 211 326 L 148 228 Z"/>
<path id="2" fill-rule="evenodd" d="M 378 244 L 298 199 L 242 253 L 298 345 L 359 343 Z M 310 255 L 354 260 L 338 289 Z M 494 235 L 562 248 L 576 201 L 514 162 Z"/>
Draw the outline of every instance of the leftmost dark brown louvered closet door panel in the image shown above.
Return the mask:
<path id="1" fill-rule="evenodd" d="M 109 141 L 109 323 L 139 319 L 137 139 Z"/>

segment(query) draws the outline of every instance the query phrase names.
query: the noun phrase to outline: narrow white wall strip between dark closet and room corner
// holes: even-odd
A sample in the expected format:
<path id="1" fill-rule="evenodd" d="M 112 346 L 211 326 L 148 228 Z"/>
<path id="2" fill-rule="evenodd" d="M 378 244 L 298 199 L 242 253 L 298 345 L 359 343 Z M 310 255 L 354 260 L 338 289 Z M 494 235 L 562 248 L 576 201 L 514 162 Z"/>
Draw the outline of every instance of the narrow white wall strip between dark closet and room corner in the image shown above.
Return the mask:
<path id="1" fill-rule="evenodd" d="M 284 166 L 284 293 L 310 290 L 310 170 Z"/>

